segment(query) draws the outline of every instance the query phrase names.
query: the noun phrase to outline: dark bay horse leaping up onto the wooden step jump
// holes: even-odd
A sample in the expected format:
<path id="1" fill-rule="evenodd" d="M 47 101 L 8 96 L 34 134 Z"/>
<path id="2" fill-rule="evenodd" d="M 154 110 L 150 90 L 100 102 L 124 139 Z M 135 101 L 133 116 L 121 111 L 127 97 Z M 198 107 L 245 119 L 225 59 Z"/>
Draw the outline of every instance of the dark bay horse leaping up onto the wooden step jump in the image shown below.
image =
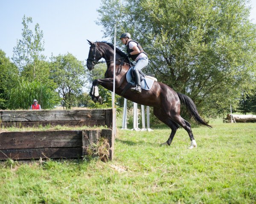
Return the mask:
<path id="1" fill-rule="evenodd" d="M 101 58 L 105 59 L 108 67 L 105 72 L 105 78 L 94 80 L 90 91 L 90 96 L 93 101 L 101 102 L 101 97 L 97 91 L 98 85 L 102 85 L 104 88 L 113 91 L 114 46 L 108 42 L 90 42 L 89 40 L 88 42 L 90 44 L 90 51 L 87 59 L 87 68 L 92 70 L 94 65 L 97 64 Z M 131 65 L 129 59 L 126 58 L 126 54 L 116 48 L 115 93 L 132 102 L 152 106 L 154 108 L 154 115 L 172 129 L 169 139 L 163 144 L 170 145 L 178 127 L 181 126 L 189 134 L 191 141 L 189 148 L 192 149 L 193 147 L 197 147 L 192 134 L 191 125 L 180 116 L 180 102 L 186 105 L 186 108 L 188 108 L 196 122 L 208 127 L 211 126 L 199 116 L 192 99 L 190 99 L 189 96 L 175 92 L 168 85 L 156 81 L 150 90 L 146 91 L 143 89 L 141 94 L 134 94 L 134 92 L 131 92 L 129 88 L 127 91 L 123 92 L 128 84 L 126 80 L 126 73 L 130 67 Z"/>

